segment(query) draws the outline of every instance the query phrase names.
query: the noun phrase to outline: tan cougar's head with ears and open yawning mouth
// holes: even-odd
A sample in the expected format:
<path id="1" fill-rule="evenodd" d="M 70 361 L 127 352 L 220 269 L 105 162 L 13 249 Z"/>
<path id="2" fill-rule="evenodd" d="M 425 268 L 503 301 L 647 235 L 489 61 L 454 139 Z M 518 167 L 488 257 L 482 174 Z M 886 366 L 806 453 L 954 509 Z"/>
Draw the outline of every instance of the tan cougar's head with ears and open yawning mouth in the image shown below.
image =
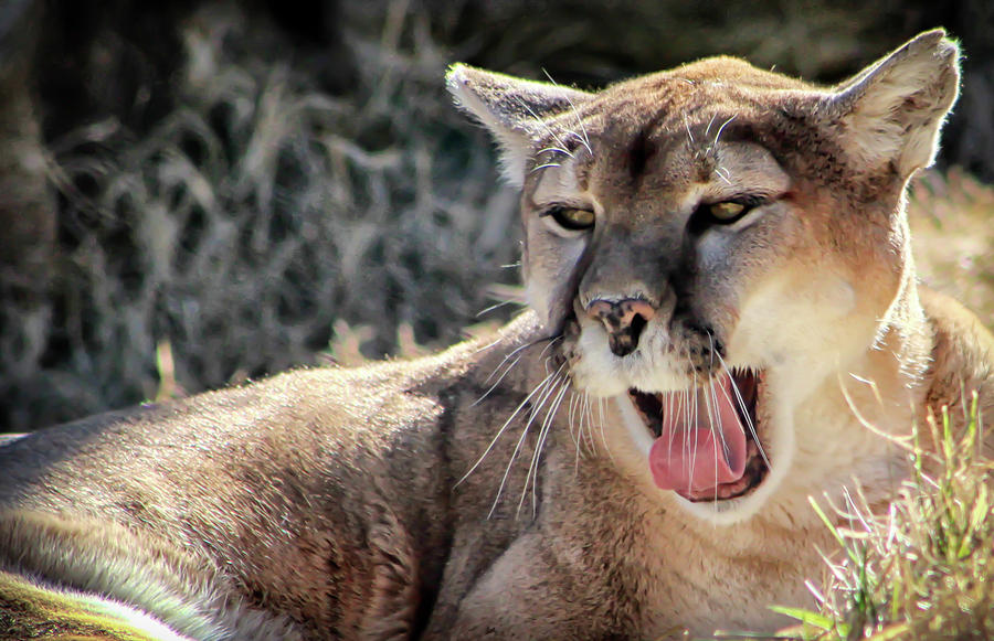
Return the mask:
<path id="1" fill-rule="evenodd" d="M 954 61 L 931 32 L 834 88 L 731 58 L 596 94 L 451 73 L 522 188 L 529 302 L 574 388 L 616 402 L 698 515 L 747 517 L 824 467 L 818 442 L 863 438 L 797 408 L 900 313 L 902 193 Z"/>

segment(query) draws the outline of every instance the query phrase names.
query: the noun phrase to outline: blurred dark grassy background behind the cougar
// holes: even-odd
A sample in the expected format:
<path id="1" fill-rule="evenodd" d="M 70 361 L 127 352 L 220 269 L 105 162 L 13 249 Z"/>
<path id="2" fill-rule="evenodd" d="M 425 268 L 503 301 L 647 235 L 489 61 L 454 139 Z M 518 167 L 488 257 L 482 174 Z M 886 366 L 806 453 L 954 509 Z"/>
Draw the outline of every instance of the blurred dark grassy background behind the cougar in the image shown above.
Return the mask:
<path id="1" fill-rule="evenodd" d="M 987 0 L 0 0 L 0 431 L 508 319 L 517 196 L 453 62 L 595 88 L 728 53 L 834 83 L 939 25 L 964 86 L 911 210 L 926 279 L 990 325 Z"/>

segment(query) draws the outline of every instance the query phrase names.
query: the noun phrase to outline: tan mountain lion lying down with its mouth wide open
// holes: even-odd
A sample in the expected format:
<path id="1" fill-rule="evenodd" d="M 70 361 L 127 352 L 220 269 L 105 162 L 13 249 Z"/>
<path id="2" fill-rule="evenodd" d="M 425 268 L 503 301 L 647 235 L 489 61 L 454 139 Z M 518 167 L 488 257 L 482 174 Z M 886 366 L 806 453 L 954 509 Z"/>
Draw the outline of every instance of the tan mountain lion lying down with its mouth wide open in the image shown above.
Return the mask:
<path id="1" fill-rule="evenodd" d="M 942 31 L 829 88 L 728 57 L 447 83 L 522 190 L 533 311 L 12 440 L 0 637 L 771 630 L 829 548 L 808 495 L 884 506 L 886 435 L 964 393 L 994 416 L 994 341 L 917 285 L 903 213 L 956 97 Z"/>

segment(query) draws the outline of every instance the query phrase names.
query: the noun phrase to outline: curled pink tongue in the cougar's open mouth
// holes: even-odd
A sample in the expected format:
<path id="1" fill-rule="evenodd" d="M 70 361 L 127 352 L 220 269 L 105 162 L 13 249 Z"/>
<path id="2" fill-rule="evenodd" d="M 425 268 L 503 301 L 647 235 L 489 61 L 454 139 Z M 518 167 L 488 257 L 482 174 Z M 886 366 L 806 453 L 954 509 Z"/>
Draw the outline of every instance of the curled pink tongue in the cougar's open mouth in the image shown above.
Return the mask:
<path id="1" fill-rule="evenodd" d="M 710 496 L 719 483 L 742 478 L 745 431 L 732 406 L 730 383 L 726 375 L 715 382 L 713 393 L 698 388 L 696 400 L 689 394 L 662 395 L 663 435 L 649 450 L 657 487 Z"/>

